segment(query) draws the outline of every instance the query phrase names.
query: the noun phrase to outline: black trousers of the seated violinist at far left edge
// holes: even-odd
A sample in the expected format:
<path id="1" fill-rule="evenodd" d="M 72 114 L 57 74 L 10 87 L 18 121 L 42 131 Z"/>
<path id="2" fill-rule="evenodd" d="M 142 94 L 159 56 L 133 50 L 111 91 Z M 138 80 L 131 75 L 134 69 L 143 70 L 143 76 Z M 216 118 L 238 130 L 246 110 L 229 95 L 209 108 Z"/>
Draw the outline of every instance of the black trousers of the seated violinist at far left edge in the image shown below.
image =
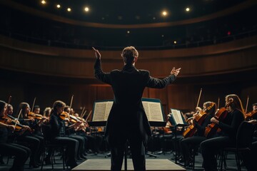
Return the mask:
<path id="1" fill-rule="evenodd" d="M 16 143 L 0 143 L 0 149 L 1 155 L 15 156 L 11 170 L 24 170 L 24 164 L 31 154 L 31 150 L 28 147 Z"/>

